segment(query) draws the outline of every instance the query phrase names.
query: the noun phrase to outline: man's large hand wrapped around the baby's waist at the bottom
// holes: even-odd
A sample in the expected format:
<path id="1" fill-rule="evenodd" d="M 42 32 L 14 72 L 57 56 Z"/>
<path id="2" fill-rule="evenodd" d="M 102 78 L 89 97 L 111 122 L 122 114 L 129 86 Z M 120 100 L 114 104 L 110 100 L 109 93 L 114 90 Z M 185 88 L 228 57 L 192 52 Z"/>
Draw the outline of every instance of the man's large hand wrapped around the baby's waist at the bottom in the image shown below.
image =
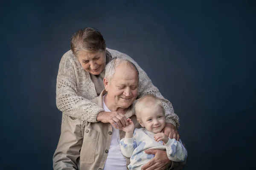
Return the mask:
<path id="1" fill-rule="evenodd" d="M 147 154 L 154 154 L 155 157 L 148 161 L 141 170 L 167 170 L 172 161 L 169 160 L 164 150 L 145 150 Z"/>

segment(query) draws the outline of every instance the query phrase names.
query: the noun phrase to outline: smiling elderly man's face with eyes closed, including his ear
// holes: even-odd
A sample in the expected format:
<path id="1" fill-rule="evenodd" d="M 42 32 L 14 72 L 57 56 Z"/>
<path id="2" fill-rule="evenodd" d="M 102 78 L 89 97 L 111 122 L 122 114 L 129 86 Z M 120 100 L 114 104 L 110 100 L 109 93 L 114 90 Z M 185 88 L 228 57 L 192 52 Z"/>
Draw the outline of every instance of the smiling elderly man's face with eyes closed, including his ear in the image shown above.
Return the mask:
<path id="1" fill-rule="evenodd" d="M 108 98 L 115 107 L 128 108 L 138 95 L 138 73 L 125 63 L 116 66 L 115 73 L 109 82 L 104 78 Z"/>

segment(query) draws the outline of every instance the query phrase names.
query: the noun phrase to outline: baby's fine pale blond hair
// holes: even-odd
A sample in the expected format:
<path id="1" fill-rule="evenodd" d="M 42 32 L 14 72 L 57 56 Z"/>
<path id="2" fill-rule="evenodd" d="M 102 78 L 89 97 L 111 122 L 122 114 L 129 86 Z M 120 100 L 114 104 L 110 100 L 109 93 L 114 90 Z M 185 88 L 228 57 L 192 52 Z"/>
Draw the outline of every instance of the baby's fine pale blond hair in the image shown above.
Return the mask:
<path id="1" fill-rule="evenodd" d="M 143 112 L 144 108 L 156 108 L 161 107 L 163 109 L 163 114 L 165 114 L 165 109 L 163 107 L 162 101 L 160 98 L 157 98 L 154 95 L 145 95 L 142 98 L 137 100 L 135 104 L 135 112 L 137 119 L 141 120 L 140 113 Z"/>

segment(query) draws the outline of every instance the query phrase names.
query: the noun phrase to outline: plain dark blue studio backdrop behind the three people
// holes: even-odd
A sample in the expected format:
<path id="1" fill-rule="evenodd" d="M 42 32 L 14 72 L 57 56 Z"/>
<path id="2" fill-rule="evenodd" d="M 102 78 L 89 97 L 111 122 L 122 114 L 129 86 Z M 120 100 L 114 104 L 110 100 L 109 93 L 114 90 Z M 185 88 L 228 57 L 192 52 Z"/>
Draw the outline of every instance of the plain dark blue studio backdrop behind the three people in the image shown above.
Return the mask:
<path id="1" fill-rule="evenodd" d="M 139 1 L 139 0 L 138 0 Z M 256 3 L 251 0 L 1 1 L 0 169 L 50 170 L 70 35 L 98 28 L 180 117 L 186 170 L 255 168 Z"/>

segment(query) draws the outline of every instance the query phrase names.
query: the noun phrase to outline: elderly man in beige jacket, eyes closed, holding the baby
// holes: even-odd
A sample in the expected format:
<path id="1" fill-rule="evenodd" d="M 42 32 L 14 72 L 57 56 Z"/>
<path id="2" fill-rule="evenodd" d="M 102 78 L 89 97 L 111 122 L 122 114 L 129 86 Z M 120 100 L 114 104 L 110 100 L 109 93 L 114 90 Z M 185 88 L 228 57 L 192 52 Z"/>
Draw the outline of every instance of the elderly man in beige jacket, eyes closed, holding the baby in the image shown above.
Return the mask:
<path id="1" fill-rule="evenodd" d="M 103 80 L 105 90 L 92 100 L 106 112 L 122 112 L 123 116 L 119 120 L 125 122 L 126 118 L 131 118 L 135 128 L 141 127 L 133 109 L 138 94 L 138 74 L 137 68 L 130 61 L 111 61 L 106 67 Z M 122 155 L 119 147 L 119 141 L 124 137 L 122 130 L 115 129 L 109 123 L 90 123 L 68 117 L 64 121 L 53 156 L 53 167 L 55 170 L 127 170 L 130 160 Z M 154 161 L 151 160 L 145 167 L 166 170 L 168 166 L 175 166 L 165 151 L 157 150 L 153 154 Z"/>

